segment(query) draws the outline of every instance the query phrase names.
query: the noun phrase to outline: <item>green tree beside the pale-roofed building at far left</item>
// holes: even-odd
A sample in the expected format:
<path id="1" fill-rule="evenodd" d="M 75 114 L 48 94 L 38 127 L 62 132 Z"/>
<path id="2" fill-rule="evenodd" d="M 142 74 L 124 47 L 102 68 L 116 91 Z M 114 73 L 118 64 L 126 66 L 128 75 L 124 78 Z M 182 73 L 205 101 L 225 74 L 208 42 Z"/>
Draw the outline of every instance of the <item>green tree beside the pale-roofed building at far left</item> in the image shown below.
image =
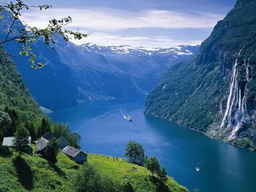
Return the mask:
<path id="1" fill-rule="evenodd" d="M 14 133 L 14 149 L 18 151 L 18 156 L 21 156 L 23 152 L 28 151 L 29 148 L 29 132 L 26 127 L 19 126 Z"/>

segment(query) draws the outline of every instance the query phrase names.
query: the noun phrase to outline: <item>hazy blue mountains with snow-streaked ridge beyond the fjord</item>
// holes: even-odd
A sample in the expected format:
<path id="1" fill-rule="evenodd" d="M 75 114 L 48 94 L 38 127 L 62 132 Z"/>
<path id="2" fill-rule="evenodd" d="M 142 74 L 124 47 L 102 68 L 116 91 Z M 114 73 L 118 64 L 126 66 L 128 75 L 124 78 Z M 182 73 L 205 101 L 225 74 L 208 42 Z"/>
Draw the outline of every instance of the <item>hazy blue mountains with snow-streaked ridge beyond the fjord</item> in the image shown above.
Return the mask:
<path id="1" fill-rule="evenodd" d="M 11 24 L 4 15 L 1 28 Z M 22 28 L 17 21 L 14 31 Z M 0 38 L 6 31 L 0 30 Z M 176 48 L 132 48 L 130 46 L 76 46 L 55 36 L 54 49 L 42 40 L 33 44 L 33 53 L 44 63 L 34 70 L 28 58 L 18 54 L 15 42 L 5 45 L 14 55 L 18 71 L 39 105 L 50 110 L 70 107 L 80 102 L 112 100 L 146 95 L 164 71 L 175 63 L 191 58 L 199 46 Z M 90 41 L 90 38 L 88 39 Z"/>

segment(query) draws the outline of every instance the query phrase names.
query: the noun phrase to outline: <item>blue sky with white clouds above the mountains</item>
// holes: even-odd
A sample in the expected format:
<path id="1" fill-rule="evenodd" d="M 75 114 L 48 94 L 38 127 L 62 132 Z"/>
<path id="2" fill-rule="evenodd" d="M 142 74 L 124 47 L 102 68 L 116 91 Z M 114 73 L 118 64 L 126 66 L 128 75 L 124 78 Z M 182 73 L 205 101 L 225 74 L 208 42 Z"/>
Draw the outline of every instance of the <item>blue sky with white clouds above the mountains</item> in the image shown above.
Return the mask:
<path id="1" fill-rule="evenodd" d="M 52 18 L 70 16 L 66 28 L 90 33 L 76 44 L 169 48 L 199 45 L 215 24 L 235 6 L 235 0 L 24 0 L 52 9 L 23 11 L 29 26 L 45 27 Z"/>

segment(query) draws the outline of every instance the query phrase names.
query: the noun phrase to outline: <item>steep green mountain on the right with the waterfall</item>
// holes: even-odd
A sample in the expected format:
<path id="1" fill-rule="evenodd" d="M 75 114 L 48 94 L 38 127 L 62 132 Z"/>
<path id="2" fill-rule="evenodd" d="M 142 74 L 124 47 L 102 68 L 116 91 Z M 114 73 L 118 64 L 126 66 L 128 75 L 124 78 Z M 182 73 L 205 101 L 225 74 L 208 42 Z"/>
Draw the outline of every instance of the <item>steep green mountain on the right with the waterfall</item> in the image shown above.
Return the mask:
<path id="1" fill-rule="evenodd" d="M 238 0 L 199 53 L 161 76 L 145 113 L 255 150 L 256 1 Z"/>

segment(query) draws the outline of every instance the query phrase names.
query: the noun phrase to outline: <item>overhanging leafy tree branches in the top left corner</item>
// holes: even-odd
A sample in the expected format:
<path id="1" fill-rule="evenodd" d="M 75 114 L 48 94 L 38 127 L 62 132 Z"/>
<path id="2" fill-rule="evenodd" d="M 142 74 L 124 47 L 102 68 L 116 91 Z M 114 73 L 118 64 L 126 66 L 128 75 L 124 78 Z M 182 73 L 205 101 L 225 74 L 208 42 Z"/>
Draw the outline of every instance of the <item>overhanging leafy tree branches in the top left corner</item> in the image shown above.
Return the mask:
<path id="1" fill-rule="evenodd" d="M 0 4 L 0 13 L 1 12 L 7 12 L 9 16 L 11 16 L 12 21 L 10 26 L 6 28 L 6 38 L 3 40 L 0 40 L 0 46 L 4 43 L 7 43 L 9 41 L 16 41 L 18 43 L 18 46 L 20 47 L 20 54 L 29 56 L 29 61 L 31 62 L 32 68 L 42 68 L 43 63 L 38 62 L 36 64 L 36 55 L 32 51 L 31 44 L 34 43 L 38 38 L 43 38 L 44 43 L 49 48 L 50 45 L 55 43 L 54 34 L 58 34 L 60 36 L 63 36 L 65 41 L 69 41 L 70 38 L 75 38 L 80 40 L 81 38 L 87 37 L 87 34 L 80 33 L 79 31 L 71 31 L 68 29 L 64 29 L 68 23 L 72 21 L 72 18 L 70 16 L 65 18 L 56 19 L 53 18 L 49 21 L 48 26 L 46 28 L 37 28 L 35 26 L 23 26 L 18 31 L 14 30 L 14 26 L 19 21 L 19 17 L 21 16 L 21 11 L 28 10 L 31 8 L 37 8 L 39 10 L 46 10 L 51 9 L 52 6 L 49 4 L 45 5 L 39 5 L 39 6 L 29 6 L 25 4 L 21 0 L 16 1 L 8 1 Z M 4 15 L 5 16 L 5 15 Z M 4 16 L 0 17 L 0 21 L 4 19 Z M 6 53 L 2 50 L 0 50 L 1 54 L 6 55 Z M 8 54 L 8 53 L 7 53 Z M 8 54 L 11 55 L 11 54 Z"/>

